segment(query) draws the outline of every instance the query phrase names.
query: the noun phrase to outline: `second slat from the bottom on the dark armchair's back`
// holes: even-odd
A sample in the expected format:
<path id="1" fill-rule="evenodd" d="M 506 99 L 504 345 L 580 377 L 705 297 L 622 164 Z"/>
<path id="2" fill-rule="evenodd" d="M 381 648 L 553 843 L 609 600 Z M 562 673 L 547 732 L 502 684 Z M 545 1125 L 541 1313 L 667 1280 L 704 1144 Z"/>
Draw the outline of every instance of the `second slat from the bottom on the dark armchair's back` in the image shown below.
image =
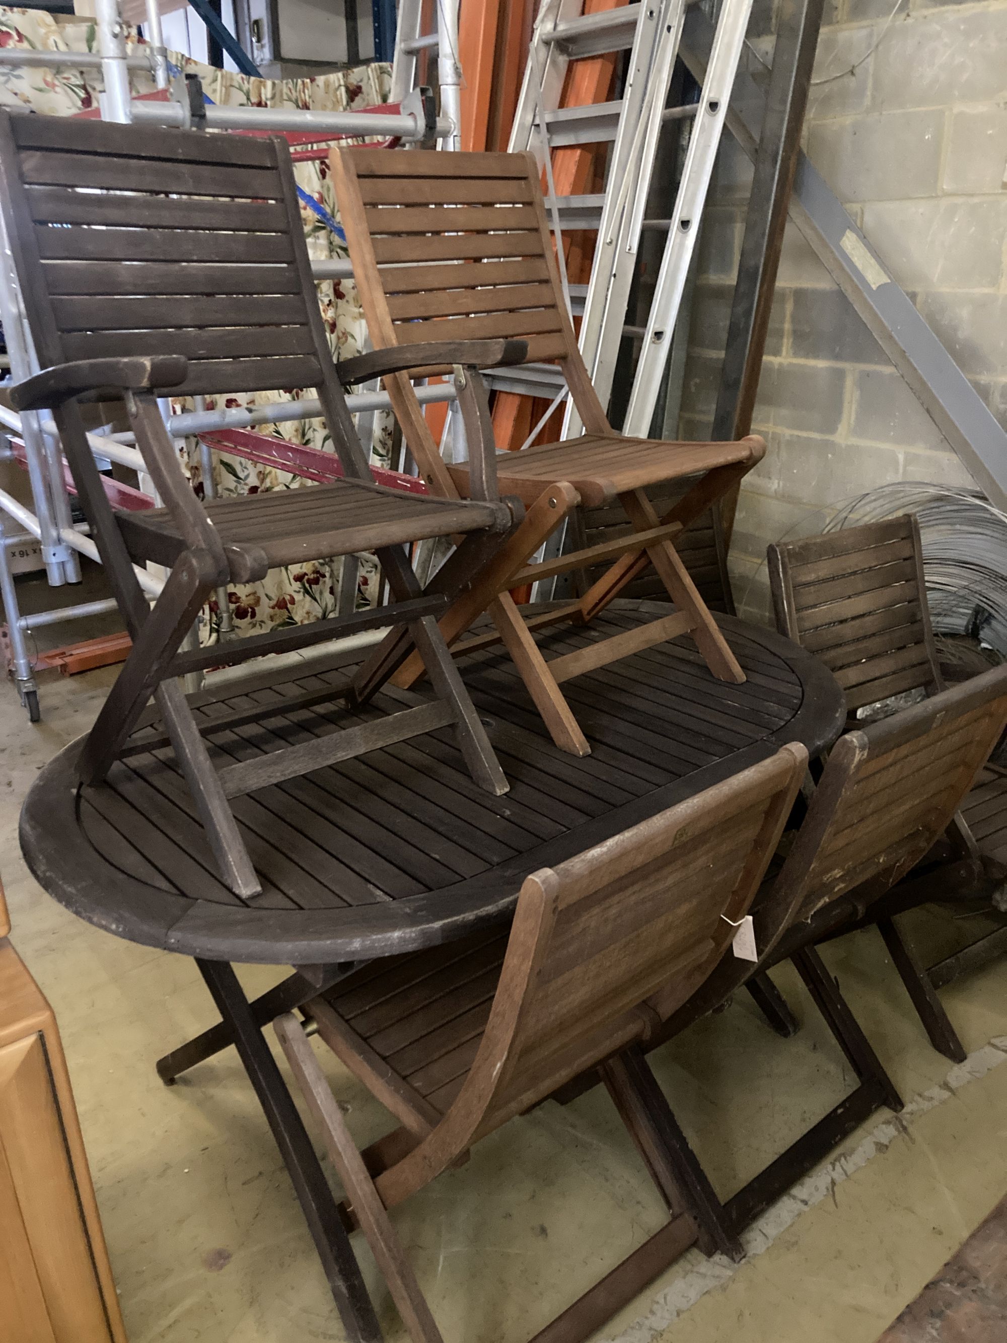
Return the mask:
<path id="1" fill-rule="evenodd" d="M 63 337 L 68 359 L 117 355 L 184 355 L 187 359 L 250 359 L 311 355 L 306 326 L 207 326 L 181 330 L 78 332 Z"/>

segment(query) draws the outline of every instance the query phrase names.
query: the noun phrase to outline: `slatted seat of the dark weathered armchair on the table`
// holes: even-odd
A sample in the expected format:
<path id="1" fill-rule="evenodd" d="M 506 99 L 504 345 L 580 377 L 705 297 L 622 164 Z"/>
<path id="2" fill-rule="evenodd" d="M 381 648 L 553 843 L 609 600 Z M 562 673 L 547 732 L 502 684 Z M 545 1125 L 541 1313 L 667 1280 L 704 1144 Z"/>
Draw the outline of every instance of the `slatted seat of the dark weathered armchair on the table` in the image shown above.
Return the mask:
<path id="1" fill-rule="evenodd" d="M 379 529 L 383 544 L 401 545 L 418 536 L 452 536 L 473 522 L 489 528 L 498 524 L 498 505 L 475 504 L 474 509 L 356 481 L 211 500 L 205 505 L 232 583 L 254 583 L 281 564 L 354 555 L 373 545 Z M 117 521 L 133 560 L 171 568 L 187 549 L 171 509 L 118 513 Z"/>

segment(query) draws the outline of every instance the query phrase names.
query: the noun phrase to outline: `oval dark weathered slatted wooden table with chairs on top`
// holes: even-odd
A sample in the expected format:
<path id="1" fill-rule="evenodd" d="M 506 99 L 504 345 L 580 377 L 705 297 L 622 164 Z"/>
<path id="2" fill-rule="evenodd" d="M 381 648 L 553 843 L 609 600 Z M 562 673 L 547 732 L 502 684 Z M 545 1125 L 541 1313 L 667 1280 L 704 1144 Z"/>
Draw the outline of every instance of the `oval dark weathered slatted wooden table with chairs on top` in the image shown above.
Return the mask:
<path id="1" fill-rule="evenodd" d="M 616 602 L 589 627 L 546 627 L 546 655 L 644 624 L 666 611 Z M 771 755 L 787 741 L 812 755 L 846 717 L 831 673 L 769 630 L 720 618 L 747 673 L 717 681 L 683 641 L 647 649 L 568 682 L 592 753 L 559 751 L 499 649 L 470 654 L 463 676 L 512 783 L 494 798 L 473 784 L 450 729 L 235 799 L 262 878 L 242 901 L 216 877 L 191 794 L 157 723 L 134 733 L 107 783 L 78 790 L 66 747 L 42 771 L 21 814 L 21 847 L 39 882 L 79 917 L 119 937 L 195 956 L 222 1021 L 160 1060 L 164 1081 L 238 1046 L 290 1170 L 352 1339 L 380 1339 L 346 1232 L 262 1027 L 336 983 L 350 964 L 400 954 L 509 917 L 529 872 Z M 252 759 L 424 696 L 388 689 L 350 713 L 333 692 L 349 655 L 262 676 L 227 697 L 193 700 L 211 752 Z M 274 673 L 275 676 L 275 673 Z M 387 698 L 389 704 L 381 704 Z M 294 966 L 255 1002 L 232 962 Z"/>

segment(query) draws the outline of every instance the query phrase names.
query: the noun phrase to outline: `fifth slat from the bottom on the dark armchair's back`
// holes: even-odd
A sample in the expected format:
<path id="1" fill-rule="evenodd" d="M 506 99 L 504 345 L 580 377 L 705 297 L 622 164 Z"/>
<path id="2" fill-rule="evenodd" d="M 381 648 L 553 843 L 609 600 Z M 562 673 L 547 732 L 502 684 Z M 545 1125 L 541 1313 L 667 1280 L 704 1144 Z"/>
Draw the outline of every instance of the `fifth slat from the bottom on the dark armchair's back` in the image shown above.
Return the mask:
<path id="1" fill-rule="evenodd" d="M 78 228 L 36 224 L 43 261 L 290 262 L 285 234 L 208 234 L 168 228 Z"/>

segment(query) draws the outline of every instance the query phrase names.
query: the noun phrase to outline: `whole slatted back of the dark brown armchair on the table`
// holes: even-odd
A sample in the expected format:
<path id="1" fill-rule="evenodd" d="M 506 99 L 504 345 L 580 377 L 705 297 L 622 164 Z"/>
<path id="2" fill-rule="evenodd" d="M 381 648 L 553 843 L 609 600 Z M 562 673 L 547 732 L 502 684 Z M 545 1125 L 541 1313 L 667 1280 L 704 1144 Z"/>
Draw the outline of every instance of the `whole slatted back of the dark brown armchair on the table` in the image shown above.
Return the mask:
<path id="1" fill-rule="evenodd" d="M 332 357 L 279 137 L 7 114 L 0 137 L 43 367 L 184 355 L 173 396 L 320 384 Z"/>

